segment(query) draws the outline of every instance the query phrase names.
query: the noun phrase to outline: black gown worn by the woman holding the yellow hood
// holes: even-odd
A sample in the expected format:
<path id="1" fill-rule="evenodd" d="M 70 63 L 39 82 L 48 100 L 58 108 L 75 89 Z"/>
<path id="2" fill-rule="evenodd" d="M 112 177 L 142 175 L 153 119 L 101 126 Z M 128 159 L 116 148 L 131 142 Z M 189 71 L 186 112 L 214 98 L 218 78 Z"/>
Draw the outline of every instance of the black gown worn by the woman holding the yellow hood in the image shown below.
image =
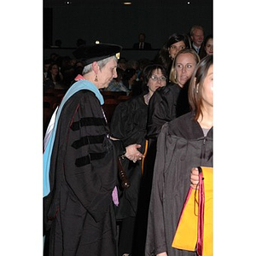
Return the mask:
<path id="1" fill-rule="evenodd" d="M 186 113 L 166 123 L 158 137 L 148 212 L 147 256 L 165 251 L 172 256 L 196 255 L 172 248 L 189 191 L 190 170 L 195 166 L 212 167 L 212 129 L 204 137 L 193 117 L 193 113 Z"/>

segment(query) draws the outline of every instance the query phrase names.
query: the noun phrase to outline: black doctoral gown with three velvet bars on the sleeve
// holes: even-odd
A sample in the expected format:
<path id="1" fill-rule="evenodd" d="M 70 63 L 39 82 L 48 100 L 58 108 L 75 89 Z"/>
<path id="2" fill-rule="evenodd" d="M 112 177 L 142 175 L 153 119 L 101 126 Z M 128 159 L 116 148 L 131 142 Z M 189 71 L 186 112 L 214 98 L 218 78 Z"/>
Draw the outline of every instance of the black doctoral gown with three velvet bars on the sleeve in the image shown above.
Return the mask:
<path id="1" fill-rule="evenodd" d="M 108 139 L 95 94 L 75 93 L 61 111 L 44 199 L 49 255 L 117 255 L 112 192 L 123 153 L 121 142 Z"/>

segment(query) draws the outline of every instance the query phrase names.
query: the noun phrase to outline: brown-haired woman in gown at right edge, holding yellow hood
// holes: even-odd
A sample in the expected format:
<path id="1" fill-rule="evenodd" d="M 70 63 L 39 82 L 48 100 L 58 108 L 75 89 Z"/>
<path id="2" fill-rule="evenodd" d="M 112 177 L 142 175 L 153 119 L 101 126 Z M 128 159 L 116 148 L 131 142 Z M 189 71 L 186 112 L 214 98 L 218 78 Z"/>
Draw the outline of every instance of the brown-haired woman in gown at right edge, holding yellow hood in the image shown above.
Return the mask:
<path id="1" fill-rule="evenodd" d="M 190 170 L 212 167 L 213 57 L 197 65 L 189 84 L 191 112 L 163 125 L 157 141 L 148 212 L 147 256 L 195 256 L 172 247 L 183 203 L 189 191 Z"/>

